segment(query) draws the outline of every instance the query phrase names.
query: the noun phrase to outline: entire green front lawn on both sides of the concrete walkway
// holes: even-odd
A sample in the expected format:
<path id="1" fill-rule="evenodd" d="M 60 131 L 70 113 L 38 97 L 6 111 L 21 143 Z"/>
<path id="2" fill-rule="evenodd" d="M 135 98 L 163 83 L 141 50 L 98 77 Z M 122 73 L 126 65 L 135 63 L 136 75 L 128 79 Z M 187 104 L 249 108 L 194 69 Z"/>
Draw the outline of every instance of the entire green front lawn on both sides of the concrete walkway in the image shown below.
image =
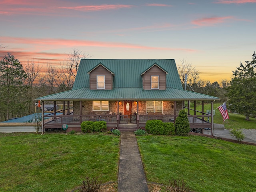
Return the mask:
<path id="1" fill-rule="evenodd" d="M 200 136 L 137 139 L 148 182 L 183 178 L 196 192 L 256 191 L 255 146 Z M 86 176 L 117 182 L 113 135 L 0 134 L 0 151 L 3 192 L 70 192 Z"/>

